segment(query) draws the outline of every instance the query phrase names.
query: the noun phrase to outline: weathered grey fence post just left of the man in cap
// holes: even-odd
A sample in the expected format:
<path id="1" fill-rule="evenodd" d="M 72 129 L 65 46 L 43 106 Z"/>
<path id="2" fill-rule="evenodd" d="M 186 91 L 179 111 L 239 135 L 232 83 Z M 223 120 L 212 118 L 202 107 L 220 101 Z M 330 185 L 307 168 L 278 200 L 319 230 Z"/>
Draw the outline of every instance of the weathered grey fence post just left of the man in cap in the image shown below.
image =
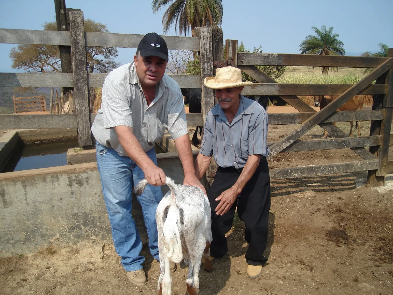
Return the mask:
<path id="1" fill-rule="evenodd" d="M 78 144 L 79 147 L 92 146 L 87 90 L 86 45 L 82 11 L 70 12 L 70 29 L 74 80 L 73 103 L 78 121 Z"/>

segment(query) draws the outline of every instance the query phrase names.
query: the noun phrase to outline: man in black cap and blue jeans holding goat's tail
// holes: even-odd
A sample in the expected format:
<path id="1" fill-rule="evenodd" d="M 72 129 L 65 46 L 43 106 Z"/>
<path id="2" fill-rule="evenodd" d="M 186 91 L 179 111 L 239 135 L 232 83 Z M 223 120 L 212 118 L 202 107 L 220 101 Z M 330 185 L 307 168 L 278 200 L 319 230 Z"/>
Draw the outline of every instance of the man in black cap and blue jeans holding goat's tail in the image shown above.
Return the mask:
<path id="1" fill-rule="evenodd" d="M 184 169 L 185 185 L 203 186 L 195 176 L 183 96 L 179 85 L 165 75 L 168 48 L 156 33 L 143 37 L 134 61 L 105 78 L 101 109 L 92 125 L 97 167 L 107 205 L 116 252 L 131 282 L 147 283 L 140 255 L 142 242 L 131 215 L 134 184 L 149 185 L 138 196 L 149 236 L 149 249 L 159 260 L 155 213 L 163 195 L 165 173 L 157 166 L 154 144 L 169 131 Z M 171 263 L 171 271 L 176 264 Z"/>

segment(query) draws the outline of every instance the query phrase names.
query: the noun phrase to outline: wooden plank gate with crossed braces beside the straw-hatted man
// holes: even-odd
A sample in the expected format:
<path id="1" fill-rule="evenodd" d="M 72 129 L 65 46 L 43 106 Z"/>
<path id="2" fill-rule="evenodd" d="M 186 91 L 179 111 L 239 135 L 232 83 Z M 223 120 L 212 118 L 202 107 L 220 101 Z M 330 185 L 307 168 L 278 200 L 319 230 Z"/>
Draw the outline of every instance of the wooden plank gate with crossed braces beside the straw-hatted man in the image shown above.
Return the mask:
<path id="1" fill-rule="evenodd" d="M 245 87 L 245 95 L 278 95 L 300 113 L 279 114 L 279 124 L 301 124 L 294 131 L 270 146 L 271 159 L 277 153 L 288 151 L 313 151 L 320 149 L 351 148 L 364 160 L 346 163 L 310 165 L 292 168 L 270 169 L 271 179 L 327 175 L 350 171 L 368 170 L 368 183 L 372 186 L 384 185 L 384 177 L 393 172 L 393 161 L 388 162 L 390 129 L 393 106 L 393 48 L 389 48 L 389 58 L 364 58 L 330 55 L 237 53 L 237 40 L 226 40 L 227 65 L 236 66 L 261 84 Z M 255 65 L 269 66 L 340 66 L 375 68 L 358 83 L 351 85 L 311 85 L 276 84 Z M 372 84 L 376 80 L 376 84 Z M 340 95 L 327 107 L 316 112 L 296 95 Z M 342 111 L 336 112 L 344 103 L 358 94 L 373 94 L 373 109 L 382 111 Z M 376 95 L 383 97 L 376 100 Z M 277 124 L 269 115 L 269 125 Z M 272 118 L 273 117 L 273 118 Z M 370 136 L 349 138 L 332 122 L 371 120 Z M 310 129 L 319 125 L 332 136 L 340 139 L 299 140 Z M 369 149 L 365 147 L 370 146 Z"/>

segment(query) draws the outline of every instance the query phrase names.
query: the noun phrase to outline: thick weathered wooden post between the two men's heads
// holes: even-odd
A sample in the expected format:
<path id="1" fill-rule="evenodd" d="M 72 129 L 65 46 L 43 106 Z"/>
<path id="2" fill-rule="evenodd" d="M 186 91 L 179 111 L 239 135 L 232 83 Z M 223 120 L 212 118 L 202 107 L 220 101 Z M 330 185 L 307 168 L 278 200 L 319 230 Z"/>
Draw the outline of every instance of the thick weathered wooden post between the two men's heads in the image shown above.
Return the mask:
<path id="1" fill-rule="evenodd" d="M 208 112 L 214 107 L 213 89 L 206 87 L 203 80 L 206 77 L 213 76 L 213 31 L 211 27 L 195 28 L 195 35 L 200 40 L 200 76 L 202 79 L 202 97 L 201 106 L 203 114 L 203 122 L 206 121 Z M 206 172 L 206 177 L 211 177 L 211 173 L 217 171 L 217 164 L 214 160 Z"/>

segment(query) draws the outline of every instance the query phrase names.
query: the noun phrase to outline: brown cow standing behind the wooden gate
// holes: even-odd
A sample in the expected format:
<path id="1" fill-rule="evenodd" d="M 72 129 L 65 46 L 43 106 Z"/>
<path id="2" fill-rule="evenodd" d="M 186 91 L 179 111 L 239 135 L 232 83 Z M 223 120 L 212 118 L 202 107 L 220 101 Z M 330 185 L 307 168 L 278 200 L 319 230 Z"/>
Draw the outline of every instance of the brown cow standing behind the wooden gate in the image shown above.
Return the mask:
<path id="1" fill-rule="evenodd" d="M 349 101 L 344 103 L 342 107 L 338 108 L 337 111 L 357 111 L 357 110 L 362 110 L 363 109 L 363 103 L 365 99 L 365 95 L 355 95 L 353 98 L 351 98 Z M 320 109 L 323 109 L 326 107 L 329 103 L 331 103 L 333 100 L 338 98 L 338 95 L 314 95 L 314 107 L 320 107 Z M 336 125 L 336 123 L 333 123 Z M 349 136 L 353 136 L 353 121 L 350 122 L 351 124 L 351 131 L 349 131 Z M 355 125 L 355 130 L 356 127 L 358 128 L 358 136 L 361 136 L 360 134 L 360 122 L 356 121 Z M 327 131 L 323 133 L 322 138 L 327 138 Z"/>

